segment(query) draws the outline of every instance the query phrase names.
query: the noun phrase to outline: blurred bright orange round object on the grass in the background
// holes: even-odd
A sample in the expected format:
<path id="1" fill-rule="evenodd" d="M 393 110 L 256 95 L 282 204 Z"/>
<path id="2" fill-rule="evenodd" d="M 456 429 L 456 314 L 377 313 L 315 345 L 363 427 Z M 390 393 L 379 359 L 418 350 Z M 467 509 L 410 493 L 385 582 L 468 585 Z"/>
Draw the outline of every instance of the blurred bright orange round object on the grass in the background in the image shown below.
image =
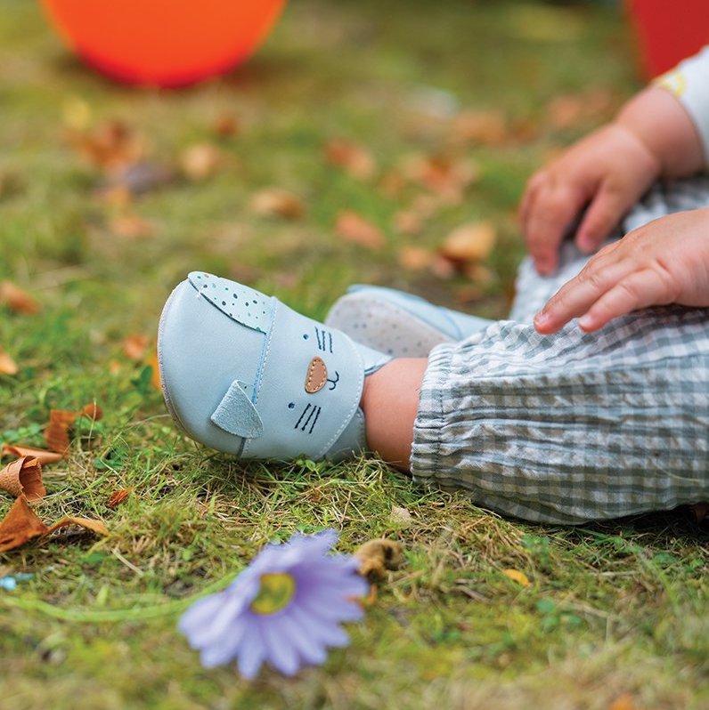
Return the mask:
<path id="1" fill-rule="evenodd" d="M 69 46 L 130 84 L 183 86 L 257 49 L 285 0 L 43 0 Z"/>

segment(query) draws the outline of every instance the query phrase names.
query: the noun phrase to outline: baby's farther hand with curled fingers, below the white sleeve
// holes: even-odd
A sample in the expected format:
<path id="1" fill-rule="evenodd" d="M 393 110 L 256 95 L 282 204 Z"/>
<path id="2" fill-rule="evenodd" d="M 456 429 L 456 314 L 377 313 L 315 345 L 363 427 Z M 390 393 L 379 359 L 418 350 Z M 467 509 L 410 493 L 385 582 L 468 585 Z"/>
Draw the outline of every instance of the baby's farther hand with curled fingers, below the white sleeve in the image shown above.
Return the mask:
<path id="1" fill-rule="evenodd" d="M 541 274 L 557 268 L 558 246 L 588 205 L 576 246 L 591 253 L 648 190 L 661 163 L 629 128 L 610 124 L 579 141 L 527 183 L 520 216 L 526 245 Z"/>

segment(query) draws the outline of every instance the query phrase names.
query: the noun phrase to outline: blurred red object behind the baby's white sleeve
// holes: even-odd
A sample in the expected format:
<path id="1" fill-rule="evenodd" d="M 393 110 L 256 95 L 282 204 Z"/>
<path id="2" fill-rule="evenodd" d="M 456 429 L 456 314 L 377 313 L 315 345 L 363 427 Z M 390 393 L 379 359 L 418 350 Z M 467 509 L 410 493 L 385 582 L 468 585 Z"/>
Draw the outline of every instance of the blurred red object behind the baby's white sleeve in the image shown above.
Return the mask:
<path id="1" fill-rule="evenodd" d="M 709 0 L 628 0 L 648 77 L 709 44 Z"/>

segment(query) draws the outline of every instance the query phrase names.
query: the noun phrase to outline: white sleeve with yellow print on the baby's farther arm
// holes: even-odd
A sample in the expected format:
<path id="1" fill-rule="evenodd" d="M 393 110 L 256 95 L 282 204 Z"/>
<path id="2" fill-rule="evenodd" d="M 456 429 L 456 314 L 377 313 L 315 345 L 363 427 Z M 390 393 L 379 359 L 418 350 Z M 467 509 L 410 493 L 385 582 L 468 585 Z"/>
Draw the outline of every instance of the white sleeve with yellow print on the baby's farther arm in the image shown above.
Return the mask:
<path id="1" fill-rule="evenodd" d="M 709 45 L 656 79 L 656 85 L 672 92 L 687 109 L 704 146 L 709 166 Z"/>

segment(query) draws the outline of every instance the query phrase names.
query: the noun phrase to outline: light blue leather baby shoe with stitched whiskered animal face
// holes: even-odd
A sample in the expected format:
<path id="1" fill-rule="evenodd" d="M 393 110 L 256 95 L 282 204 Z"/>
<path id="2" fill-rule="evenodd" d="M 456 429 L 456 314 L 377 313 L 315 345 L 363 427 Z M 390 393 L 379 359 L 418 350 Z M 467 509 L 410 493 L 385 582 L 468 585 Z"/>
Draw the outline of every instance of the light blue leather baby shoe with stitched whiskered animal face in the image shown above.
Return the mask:
<path id="1" fill-rule="evenodd" d="M 389 358 L 276 298 L 194 271 L 163 309 L 158 359 L 167 408 L 189 436 L 285 461 L 363 450 L 364 376 Z"/>

